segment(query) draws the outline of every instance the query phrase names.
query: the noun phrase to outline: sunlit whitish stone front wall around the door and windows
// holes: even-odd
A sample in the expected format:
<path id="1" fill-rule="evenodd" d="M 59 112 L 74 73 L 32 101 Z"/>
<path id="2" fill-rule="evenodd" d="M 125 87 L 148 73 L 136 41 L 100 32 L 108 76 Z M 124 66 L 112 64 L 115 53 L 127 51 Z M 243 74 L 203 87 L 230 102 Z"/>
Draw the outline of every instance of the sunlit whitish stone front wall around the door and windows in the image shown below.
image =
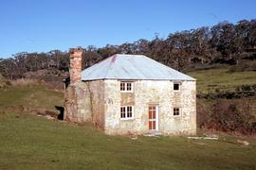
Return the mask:
<path id="1" fill-rule="evenodd" d="M 180 92 L 174 92 L 174 82 L 137 80 L 134 93 L 120 93 L 119 80 L 105 80 L 105 132 L 107 134 L 143 134 L 149 132 L 148 107 L 159 106 L 159 132 L 164 135 L 195 134 L 195 81 L 182 81 Z M 133 101 L 134 100 L 134 101 Z M 120 120 L 120 106 L 134 104 L 134 119 Z M 174 116 L 174 107 L 181 109 Z"/>

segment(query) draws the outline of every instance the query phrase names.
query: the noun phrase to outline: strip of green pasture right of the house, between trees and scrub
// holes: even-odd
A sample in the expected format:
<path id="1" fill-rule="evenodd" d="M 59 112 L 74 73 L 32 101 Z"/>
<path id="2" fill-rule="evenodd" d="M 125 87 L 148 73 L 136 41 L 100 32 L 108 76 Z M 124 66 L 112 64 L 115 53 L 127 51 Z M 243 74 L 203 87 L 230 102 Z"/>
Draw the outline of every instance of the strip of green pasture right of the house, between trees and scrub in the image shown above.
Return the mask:
<path id="1" fill-rule="evenodd" d="M 256 84 L 256 72 L 233 72 L 229 73 L 229 67 L 200 70 L 187 73 L 197 79 L 197 92 L 210 93 L 215 89 L 222 91 L 234 91 L 241 85 Z"/>

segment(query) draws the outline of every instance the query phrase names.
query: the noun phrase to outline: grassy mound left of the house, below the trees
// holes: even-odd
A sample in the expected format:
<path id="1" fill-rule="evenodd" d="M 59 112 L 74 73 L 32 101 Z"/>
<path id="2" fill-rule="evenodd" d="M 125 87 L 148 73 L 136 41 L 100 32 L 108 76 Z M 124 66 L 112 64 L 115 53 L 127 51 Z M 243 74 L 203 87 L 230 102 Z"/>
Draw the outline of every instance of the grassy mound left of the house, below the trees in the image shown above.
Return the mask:
<path id="1" fill-rule="evenodd" d="M 57 116 L 56 107 L 64 104 L 64 93 L 38 83 L 35 80 L 11 81 L 5 89 L 0 89 L 0 112 L 31 113 L 49 112 Z"/>

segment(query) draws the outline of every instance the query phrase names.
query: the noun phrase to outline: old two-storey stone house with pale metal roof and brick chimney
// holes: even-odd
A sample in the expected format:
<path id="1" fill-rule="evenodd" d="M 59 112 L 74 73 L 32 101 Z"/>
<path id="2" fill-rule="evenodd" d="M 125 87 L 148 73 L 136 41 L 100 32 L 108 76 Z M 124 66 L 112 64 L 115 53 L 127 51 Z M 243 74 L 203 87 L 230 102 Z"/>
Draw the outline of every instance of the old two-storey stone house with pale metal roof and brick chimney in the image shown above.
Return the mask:
<path id="1" fill-rule="evenodd" d="M 106 134 L 196 133 L 196 80 L 143 55 L 114 55 L 82 71 L 70 49 L 64 119 Z"/>

